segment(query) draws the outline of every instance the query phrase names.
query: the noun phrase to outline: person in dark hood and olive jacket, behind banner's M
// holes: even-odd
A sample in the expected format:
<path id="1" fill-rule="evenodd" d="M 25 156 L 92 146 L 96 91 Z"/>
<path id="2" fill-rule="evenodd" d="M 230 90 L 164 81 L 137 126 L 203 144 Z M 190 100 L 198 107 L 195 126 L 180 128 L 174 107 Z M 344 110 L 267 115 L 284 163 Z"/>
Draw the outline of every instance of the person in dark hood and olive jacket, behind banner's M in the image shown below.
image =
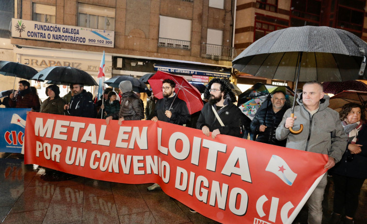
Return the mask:
<path id="1" fill-rule="evenodd" d="M 41 113 L 64 115 L 65 101 L 61 98 L 60 89 L 56 85 L 50 85 L 46 88 L 48 98 L 41 105 Z"/>

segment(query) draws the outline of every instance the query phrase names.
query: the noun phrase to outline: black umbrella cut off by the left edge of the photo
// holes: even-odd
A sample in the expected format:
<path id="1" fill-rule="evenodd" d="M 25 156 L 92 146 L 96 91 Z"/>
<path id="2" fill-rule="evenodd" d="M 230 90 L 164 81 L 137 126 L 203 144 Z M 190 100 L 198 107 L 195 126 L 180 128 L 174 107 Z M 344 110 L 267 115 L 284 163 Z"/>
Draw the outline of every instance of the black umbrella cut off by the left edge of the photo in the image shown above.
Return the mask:
<path id="1" fill-rule="evenodd" d="M 0 60 L 0 74 L 31 79 L 33 75 L 37 74 L 37 70 L 18 62 Z"/>

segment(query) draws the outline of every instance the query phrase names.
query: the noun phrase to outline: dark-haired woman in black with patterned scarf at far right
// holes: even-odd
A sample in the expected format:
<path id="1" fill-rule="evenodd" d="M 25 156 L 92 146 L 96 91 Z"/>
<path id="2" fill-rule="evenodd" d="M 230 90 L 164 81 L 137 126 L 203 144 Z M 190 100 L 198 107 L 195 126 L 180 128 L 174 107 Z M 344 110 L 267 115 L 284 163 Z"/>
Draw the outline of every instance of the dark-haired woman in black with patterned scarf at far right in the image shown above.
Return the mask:
<path id="1" fill-rule="evenodd" d="M 367 124 L 364 108 L 359 104 L 346 104 L 339 115 L 348 145 L 342 159 L 330 172 L 334 178 L 334 211 L 330 224 L 340 223 L 345 210 L 344 224 L 353 224 L 358 207 L 358 196 L 367 178 Z"/>

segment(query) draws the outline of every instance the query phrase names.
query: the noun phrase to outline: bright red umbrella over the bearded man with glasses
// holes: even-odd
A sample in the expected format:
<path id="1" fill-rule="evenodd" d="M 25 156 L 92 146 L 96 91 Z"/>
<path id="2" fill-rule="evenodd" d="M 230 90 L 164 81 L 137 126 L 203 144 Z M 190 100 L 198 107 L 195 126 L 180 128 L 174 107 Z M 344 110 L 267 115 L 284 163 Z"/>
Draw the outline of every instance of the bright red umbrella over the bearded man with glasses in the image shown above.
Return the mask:
<path id="1" fill-rule="evenodd" d="M 186 102 L 190 114 L 200 111 L 203 108 L 203 101 L 199 90 L 193 87 L 184 77 L 166 72 L 158 71 L 148 80 L 155 97 L 158 99 L 163 98 L 161 88 L 163 80 L 167 78 L 172 79 L 176 83 L 175 92 L 177 97 Z"/>

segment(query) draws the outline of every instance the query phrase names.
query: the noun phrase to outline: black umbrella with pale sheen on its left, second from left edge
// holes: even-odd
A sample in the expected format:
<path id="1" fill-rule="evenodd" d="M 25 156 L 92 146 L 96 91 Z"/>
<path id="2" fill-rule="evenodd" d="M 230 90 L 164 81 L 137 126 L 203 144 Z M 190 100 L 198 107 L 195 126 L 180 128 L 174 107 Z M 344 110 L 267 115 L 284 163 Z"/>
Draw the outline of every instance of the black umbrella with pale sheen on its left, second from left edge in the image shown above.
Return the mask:
<path id="1" fill-rule="evenodd" d="M 62 84 L 83 84 L 86 86 L 98 86 L 96 80 L 83 70 L 70 66 L 53 66 L 45 68 L 32 77 L 36 81 L 55 81 Z"/>

